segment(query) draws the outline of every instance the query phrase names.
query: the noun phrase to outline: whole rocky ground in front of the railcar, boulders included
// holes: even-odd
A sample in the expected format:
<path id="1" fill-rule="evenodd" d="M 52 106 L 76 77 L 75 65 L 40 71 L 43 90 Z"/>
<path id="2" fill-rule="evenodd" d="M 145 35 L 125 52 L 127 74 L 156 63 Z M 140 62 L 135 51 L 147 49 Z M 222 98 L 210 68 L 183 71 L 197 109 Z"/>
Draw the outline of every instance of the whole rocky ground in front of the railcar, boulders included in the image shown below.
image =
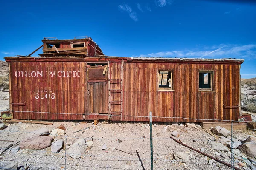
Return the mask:
<path id="1" fill-rule="evenodd" d="M 62 170 L 65 169 L 65 164 L 67 164 L 67 170 L 136 170 L 143 169 L 143 165 L 145 169 L 150 169 L 150 133 L 149 126 L 145 123 L 132 122 L 105 124 L 106 122 L 100 122 L 96 126 L 93 125 L 93 122 L 52 123 L 53 125 L 38 125 L 32 123 L 6 124 L 7 127 L 0 130 L 0 140 L 12 140 L 13 142 L 0 142 L 0 148 L 2 148 L 0 153 L 10 144 L 15 144 L 19 141 L 21 142 L 7 149 L 3 155 L 0 154 L 0 167 L 11 166 L 16 169 L 17 167 L 20 167 L 21 170 Z M 55 130 L 56 127 L 61 124 L 64 125 L 66 130 Z M 90 128 L 81 130 L 86 127 Z M 44 129 L 38 131 L 38 133 L 33 133 L 33 131 L 42 128 Z M 39 134 L 45 132 L 45 129 L 47 129 L 46 131 L 51 131 L 51 135 L 39 136 Z M 81 131 L 74 133 L 78 130 Z M 256 136 L 253 131 L 236 130 L 234 133 L 236 138 L 235 144 L 247 139 L 249 137 L 248 135 Z M 177 137 L 174 137 L 173 135 Z M 231 163 L 230 149 L 224 146 L 227 145 L 227 143 L 224 145 L 217 143 L 228 142 L 230 136 L 227 136 L 227 139 L 219 139 L 220 137 L 215 138 L 201 129 L 198 125 L 196 127 L 186 127 L 185 125 L 172 123 L 154 124 L 154 169 L 230 169 L 219 162 L 178 144 L 172 140 L 170 136 L 173 136 L 175 139 L 178 139 L 197 150 L 201 150 L 204 153 L 218 158 L 221 161 L 225 161 L 229 164 Z M 57 145 L 54 144 L 54 142 L 51 143 L 51 139 L 54 142 L 62 139 L 63 145 L 62 142 L 61 144 L 57 144 L 56 142 Z M 84 139 L 87 143 L 83 142 Z M 91 142 L 92 139 L 93 142 Z M 80 141 L 79 143 L 77 142 L 78 140 Z M 34 144 L 33 141 L 36 141 L 36 144 Z M 74 144 L 75 142 L 76 144 Z M 52 147 L 49 146 L 50 144 L 58 147 L 53 148 L 53 150 L 60 151 L 53 153 Z M 253 146 L 255 144 L 253 144 Z M 17 146 L 20 146 L 20 149 Z M 27 147 L 33 147 L 34 149 Z M 42 149 L 43 147 L 46 148 Z M 139 161 L 136 150 L 138 151 L 141 162 Z M 236 167 L 244 170 L 256 170 L 255 157 L 244 155 L 239 149 L 235 149 L 234 154 Z M 80 158 L 73 159 L 76 157 Z M 9 169 L 11 168 L 9 167 Z"/>

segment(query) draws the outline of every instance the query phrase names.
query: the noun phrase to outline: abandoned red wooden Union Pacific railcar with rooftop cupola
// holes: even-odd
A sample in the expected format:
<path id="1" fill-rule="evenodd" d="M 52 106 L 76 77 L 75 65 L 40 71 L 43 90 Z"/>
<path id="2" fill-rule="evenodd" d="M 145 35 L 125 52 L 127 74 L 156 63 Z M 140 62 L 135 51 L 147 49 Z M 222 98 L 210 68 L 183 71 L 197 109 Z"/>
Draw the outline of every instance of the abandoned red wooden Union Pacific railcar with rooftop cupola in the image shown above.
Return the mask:
<path id="1" fill-rule="evenodd" d="M 93 55 L 73 55 L 70 48 L 81 48 L 70 45 L 76 39 L 68 47 L 52 41 L 43 40 L 40 57 L 5 57 L 14 119 L 148 121 L 149 111 L 163 122 L 240 116 L 243 59 L 108 57 L 97 46 Z"/>

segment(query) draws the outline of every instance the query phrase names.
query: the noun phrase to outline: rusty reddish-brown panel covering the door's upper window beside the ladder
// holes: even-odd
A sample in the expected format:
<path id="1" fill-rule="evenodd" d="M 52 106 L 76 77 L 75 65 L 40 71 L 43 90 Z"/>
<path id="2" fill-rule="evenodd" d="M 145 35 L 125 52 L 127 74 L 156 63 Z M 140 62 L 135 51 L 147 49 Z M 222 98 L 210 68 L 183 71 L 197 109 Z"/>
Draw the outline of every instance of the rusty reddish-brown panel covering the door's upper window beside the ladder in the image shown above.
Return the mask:
<path id="1" fill-rule="evenodd" d="M 107 67 L 99 67 L 99 68 L 87 68 L 87 81 L 88 82 L 106 82 Z"/>

